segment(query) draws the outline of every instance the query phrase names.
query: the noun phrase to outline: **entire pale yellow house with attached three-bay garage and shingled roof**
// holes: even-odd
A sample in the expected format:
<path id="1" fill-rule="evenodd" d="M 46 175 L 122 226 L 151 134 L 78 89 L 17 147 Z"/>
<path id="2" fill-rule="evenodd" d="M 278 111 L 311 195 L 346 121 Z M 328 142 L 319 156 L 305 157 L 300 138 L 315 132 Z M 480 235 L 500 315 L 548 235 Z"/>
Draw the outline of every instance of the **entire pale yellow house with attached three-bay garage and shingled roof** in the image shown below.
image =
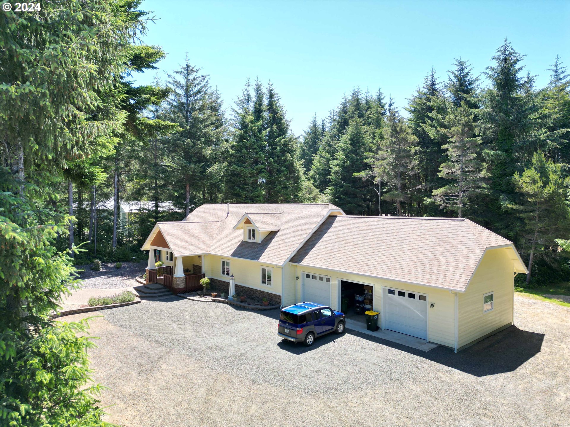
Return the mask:
<path id="1" fill-rule="evenodd" d="M 201 274 L 227 289 L 234 276 L 238 294 L 334 310 L 362 295 L 381 329 L 455 351 L 512 325 L 514 277 L 527 271 L 510 241 L 468 219 L 332 204 L 204 204 L 157 223 L 142 249 L 150 274 L 158 257 L 172 269 L 173 288 Z"/>

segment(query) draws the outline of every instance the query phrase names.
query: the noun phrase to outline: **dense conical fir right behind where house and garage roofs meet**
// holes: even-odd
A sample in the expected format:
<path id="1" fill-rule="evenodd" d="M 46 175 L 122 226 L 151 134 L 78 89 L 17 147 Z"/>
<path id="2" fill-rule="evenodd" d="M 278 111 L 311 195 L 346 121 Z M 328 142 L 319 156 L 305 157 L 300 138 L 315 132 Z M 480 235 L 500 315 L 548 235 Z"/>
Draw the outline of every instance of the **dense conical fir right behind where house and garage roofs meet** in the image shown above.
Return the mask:
<path id="1" fill-rule="evenodd" d="M 327 189 L 327 195 L 331 203 L 349 215 L 367 211 L 366 186 L 355 173 L 366 167 L 369 144 L 360 118 L 355 117 L 340 139 L 335 158 L 331 162 L 331 185 Z"/>

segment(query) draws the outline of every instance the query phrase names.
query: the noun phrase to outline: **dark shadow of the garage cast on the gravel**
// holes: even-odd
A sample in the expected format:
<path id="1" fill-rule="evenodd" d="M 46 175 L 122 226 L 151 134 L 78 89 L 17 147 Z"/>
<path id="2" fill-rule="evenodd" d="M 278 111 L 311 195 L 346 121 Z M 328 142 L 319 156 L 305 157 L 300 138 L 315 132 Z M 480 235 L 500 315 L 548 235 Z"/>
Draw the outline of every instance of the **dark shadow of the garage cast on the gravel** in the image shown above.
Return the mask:
<path id="1" fill-rule="evenodd" d="M 456 354 L 453 349 L 443 346 L 426 352 L 353 330 L 347 330 L 347 334 L 397 348 L 478 377 L 514 371 L 540 352 L 544 340 L 544 334 L 510 326 Z"/>

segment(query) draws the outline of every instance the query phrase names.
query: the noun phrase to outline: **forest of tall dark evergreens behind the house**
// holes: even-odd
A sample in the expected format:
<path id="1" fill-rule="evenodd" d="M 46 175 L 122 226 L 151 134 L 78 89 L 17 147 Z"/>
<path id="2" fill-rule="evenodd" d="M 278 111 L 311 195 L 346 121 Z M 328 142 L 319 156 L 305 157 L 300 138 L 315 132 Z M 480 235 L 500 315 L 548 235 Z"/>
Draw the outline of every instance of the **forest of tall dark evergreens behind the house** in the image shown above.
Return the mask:
<path id="1" fill-rule="evenodd" d="M 163 57 L 145 47 L 132 73 Z M 115 146 L 60 184 L 75 241 L 90 242 L 77 263 L 129 258 L 156 221 L 203 203 L 333 203 L 349 215 L 466 217 L 514 241 L 528 285 L 567 280 L 569 79 L 557 57 L 538 88 L 523 58 L 505 40 L 481 73 L 461 58 L 431 69 L 404 109 L 382 89 L 354 88 L 300 137 L 271 81 L 247 79 L 227 107 L 188 55 L 152 85 L 125 75 Z M 115 209 L 97 210 L 106 200 Z M 149 209 L 120 227 L 130 200 Z"/>

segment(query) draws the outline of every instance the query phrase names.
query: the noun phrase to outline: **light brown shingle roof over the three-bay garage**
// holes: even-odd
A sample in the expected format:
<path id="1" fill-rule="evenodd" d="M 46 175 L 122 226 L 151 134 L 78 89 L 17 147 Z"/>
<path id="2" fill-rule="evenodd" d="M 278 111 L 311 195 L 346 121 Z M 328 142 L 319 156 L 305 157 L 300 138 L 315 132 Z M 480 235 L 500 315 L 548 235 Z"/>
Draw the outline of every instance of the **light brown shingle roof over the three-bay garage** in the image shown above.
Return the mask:
<path id="1" fill-rule="evenodd" d="M 468 219 L 331 216 L 291 262 L 465 290 L 484 250 L 508 244 Z"/>

